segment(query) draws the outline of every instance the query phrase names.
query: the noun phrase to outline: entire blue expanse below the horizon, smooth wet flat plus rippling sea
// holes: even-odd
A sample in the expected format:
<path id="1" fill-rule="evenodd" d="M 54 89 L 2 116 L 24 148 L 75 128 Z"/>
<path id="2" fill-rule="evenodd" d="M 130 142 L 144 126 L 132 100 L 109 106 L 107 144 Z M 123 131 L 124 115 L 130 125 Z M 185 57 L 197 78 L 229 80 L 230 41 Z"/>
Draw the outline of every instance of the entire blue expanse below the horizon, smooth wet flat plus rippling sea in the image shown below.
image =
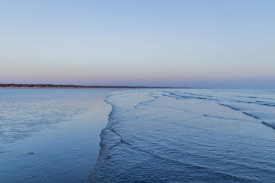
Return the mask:
<path id="1" fill-rule="evenodd" d="M 0 89 L 0 182 L 275 182 L 275 90 Z"/>

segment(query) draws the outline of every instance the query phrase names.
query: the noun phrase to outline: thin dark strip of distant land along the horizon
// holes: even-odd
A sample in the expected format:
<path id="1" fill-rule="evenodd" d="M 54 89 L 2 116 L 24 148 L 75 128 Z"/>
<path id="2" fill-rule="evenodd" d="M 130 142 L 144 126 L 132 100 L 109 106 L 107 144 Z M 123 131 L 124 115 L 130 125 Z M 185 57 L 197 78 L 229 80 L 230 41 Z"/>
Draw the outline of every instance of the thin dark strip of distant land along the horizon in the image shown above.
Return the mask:
<path id="1" fill-rule="evenodd" d="M 83 86 L 74 84 L 0 84 L 0 88 L 188 88 L 162 86 Z"/>

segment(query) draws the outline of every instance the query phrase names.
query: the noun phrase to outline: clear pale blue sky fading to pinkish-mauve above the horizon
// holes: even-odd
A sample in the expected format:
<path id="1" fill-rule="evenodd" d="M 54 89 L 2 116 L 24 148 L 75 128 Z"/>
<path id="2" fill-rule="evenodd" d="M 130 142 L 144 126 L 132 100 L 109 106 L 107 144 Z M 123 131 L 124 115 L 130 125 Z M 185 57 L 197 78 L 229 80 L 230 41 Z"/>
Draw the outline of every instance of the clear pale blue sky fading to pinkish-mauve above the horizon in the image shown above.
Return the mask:
<path id="1" fill-rule="evenodd" d="M 0 1 L 0 83 L 275 88 L 275 1 Z"/>

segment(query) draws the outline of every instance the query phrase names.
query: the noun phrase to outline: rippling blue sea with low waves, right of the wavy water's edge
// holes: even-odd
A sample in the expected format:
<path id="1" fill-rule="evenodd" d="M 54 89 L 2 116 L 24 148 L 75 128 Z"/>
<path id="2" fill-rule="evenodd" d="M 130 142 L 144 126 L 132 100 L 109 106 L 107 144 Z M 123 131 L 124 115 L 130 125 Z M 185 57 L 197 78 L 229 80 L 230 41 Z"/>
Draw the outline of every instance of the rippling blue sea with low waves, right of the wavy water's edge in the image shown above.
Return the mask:
<path id="1" fill-rule="evenodd" d="M 90 182 L 275 182 L 275 90 L 128 90 Z"/>

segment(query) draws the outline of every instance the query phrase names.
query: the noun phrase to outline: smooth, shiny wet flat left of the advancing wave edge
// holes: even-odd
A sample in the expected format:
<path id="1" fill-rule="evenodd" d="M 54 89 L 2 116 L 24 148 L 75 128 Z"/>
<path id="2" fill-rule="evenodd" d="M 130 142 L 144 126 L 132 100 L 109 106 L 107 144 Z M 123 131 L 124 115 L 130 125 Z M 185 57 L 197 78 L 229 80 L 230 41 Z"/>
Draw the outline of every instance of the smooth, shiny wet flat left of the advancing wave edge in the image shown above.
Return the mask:
<path id="1" fill-rule="evenodd" d="M 113 91 L 1 88 L 0 182 L 87 182 Z"/>

